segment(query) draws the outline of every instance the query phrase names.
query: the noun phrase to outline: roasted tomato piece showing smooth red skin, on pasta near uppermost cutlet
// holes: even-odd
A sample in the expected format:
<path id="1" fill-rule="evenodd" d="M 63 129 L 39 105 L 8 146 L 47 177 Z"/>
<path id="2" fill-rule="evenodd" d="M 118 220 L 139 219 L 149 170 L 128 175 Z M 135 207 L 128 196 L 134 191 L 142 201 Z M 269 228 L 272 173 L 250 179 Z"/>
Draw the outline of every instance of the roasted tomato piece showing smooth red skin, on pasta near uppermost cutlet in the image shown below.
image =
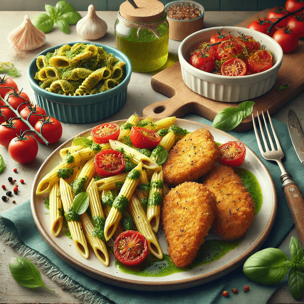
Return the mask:
<path id="1" fill-rule="evenodd" d="M 131 129 L 130 140 L 136 148 L 155 148 L 161 141 L 155 131 L 133 126 Z"/>

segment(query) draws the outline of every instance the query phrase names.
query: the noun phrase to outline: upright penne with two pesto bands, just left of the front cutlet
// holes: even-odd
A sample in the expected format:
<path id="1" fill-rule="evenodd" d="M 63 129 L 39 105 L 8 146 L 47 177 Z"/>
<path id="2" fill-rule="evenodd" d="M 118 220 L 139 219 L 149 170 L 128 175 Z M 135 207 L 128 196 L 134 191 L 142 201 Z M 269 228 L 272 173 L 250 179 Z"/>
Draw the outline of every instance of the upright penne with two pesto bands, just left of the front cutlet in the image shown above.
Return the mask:
<path id="1" fill-rule="evenodd" d="M 150 192 L 147 203 L 147 219 L 155 233 L 157 233 L 159 227 L 161 202 L 163 200 L 163 181 L 163 170 L 161 169 L 158 172 L 154 172 L 151 178 Z"/>

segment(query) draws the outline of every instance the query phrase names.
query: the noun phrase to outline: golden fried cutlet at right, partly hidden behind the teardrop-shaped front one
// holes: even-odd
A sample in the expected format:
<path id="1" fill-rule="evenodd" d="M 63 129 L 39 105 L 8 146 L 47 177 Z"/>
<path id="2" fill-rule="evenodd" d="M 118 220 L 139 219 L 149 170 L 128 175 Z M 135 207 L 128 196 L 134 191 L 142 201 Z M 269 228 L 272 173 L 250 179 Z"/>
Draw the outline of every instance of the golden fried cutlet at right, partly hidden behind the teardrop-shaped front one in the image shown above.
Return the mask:
<path id="1" fill-rule="evenodd" d="M 216 196 L 214 232 L 223 240 L 242 237 L 254 219 L 254 201 L 240 176 L 218 166 L 204 177 L 203 185 Z"/>

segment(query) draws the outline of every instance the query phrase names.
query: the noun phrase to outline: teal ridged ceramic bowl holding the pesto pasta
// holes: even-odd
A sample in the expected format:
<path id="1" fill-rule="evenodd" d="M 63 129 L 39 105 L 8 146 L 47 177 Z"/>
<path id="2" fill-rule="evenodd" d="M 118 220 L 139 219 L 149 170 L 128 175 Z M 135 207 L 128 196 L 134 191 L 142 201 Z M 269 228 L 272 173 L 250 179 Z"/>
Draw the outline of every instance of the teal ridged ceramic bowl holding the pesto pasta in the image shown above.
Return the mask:
<path id="1" fill-rule="evenodd" d="M 73 45 L 74 43 L 68 44 Z M 98 43 L 94 44 L 103 47 L 108 53 L 112 53 L 116 58 L 126 63 L 123 67 L 125 79 L 115 88 L 98 94 L 85 96 L 60 95 L 40 88 L 34 79 L 37 70 L 35 57 L 29 64 L 28 77 L 38 105 L 45 109 L 48 116 L 53 116 L 66 123 L 92 123 L 114 115 L 126 103 L 127 86 L 132 73 L 132 65 L 129 58 L 114 47 Z M 48 48 L 37 56 L 54 52 L 55 49 L 61 46 Z"/>

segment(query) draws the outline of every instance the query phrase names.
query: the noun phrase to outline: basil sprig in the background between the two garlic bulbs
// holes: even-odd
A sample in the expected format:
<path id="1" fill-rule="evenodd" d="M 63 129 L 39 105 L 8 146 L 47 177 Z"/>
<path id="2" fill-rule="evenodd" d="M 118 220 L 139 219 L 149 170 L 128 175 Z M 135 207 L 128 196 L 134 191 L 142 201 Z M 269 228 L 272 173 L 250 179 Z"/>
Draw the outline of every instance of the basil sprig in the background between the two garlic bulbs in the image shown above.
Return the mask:
<path id="1" fill-rule="evenodd" d="M 33 25 L 43 33 L 52 31 L 55 23 L 62 32 L 69 34 L 69 25 L 76 24 L 81 19 L 74 6 L 64 0 L 57 2 L 56 6 L 46 4 L 45 10 L 46 13 L 36 15 L 33 20 Z"/>

